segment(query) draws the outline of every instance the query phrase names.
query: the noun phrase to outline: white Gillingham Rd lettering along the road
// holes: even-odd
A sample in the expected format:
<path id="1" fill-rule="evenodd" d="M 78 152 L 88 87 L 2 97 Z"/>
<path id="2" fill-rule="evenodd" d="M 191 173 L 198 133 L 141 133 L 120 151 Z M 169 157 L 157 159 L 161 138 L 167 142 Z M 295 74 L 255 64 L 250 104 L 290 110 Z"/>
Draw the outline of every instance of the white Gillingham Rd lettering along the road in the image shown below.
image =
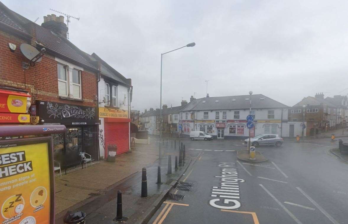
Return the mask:
<path id="1" fill-rule="evenodd" d="M 209 200 L 209 204 L 220 209 L 237 209 L 241 206 L 237 200 L 240 199 L 239 183 L 245 180 L 238 178 L 236 163 L 218 163 L 217 166 L 221 168 L 220 176 L 215 176 L 221 178 L 220 188 L 213 187 L 211 196 L 215 198 Z"/>

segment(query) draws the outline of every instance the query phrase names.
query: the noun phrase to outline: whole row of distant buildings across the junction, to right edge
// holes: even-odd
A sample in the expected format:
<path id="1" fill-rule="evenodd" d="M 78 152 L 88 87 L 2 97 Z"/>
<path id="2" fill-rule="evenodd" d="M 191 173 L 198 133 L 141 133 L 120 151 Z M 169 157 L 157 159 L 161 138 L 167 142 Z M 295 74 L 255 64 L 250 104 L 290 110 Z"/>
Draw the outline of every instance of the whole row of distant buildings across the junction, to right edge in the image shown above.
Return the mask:
<path id="1" fill-rule="evenodd" d="M 294 107 L 262 94 L 251 96 L 251 114 L 255 127 L 250 135 L 279 134 L 282 137 L 314 135 L 345 126 L 348 116 L 347 96 L 326 97 L 318 93 L 308 96 Z M 250 95 L 222 96 L 182 101 L 181 106 L 163 105 L 164 136 L 188 136 L 190 131 L 204 131 L 215 139 L 244 139 L 249 136 L 246 116 L 250 109 Z M 303 113 L 304 112 L 304 113 Z M 159 134 L 160 109 L 145 111 L 141 125 L 149 134 Z"/>

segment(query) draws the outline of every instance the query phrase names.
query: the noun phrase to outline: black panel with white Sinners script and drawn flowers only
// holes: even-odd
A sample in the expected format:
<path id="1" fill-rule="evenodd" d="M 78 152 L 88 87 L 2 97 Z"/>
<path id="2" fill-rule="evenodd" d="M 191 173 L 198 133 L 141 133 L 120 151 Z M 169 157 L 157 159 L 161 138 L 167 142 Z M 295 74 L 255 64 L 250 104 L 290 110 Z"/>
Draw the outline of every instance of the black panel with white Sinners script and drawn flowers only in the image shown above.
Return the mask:
<path id="1" fill-rule="evenodd" d="M 75 106 L 70 104 L 39 101 L 40 117 L 50 119 L 95 119 L 96 110 L 94 107 Z"/>

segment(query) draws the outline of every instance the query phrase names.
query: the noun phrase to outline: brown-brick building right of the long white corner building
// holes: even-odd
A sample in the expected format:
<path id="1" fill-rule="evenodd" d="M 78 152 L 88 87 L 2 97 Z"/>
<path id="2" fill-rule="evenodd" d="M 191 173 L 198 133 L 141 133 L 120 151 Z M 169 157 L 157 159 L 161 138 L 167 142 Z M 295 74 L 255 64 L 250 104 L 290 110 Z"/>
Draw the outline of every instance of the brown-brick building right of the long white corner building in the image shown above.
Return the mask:
<path id="1" fill-rule="evenodd" d="M 323 93 L 307 96 L 288 109 L 289 121 L 307 122 L 307 136 L 337 128 L 338 107 L 324 99 Z"/>

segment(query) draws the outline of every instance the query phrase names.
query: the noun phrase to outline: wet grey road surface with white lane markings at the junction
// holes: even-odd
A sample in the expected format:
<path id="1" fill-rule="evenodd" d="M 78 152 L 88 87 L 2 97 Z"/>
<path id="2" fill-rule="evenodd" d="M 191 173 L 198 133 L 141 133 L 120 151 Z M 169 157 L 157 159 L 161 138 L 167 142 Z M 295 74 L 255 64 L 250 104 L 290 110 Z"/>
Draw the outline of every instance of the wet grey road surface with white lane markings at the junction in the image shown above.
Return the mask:
<path id="1" fill-rule="evenodd" d="M 329 152 L 338 141 L 257 147 L 263 163 L 237 160 L 242 141 L 184 144 L 193 162 L 181 181 L 192 187 L 174 189 L 183 199 L 166 200 L 149 223 L 348 223 L 348 164 Z"/>

